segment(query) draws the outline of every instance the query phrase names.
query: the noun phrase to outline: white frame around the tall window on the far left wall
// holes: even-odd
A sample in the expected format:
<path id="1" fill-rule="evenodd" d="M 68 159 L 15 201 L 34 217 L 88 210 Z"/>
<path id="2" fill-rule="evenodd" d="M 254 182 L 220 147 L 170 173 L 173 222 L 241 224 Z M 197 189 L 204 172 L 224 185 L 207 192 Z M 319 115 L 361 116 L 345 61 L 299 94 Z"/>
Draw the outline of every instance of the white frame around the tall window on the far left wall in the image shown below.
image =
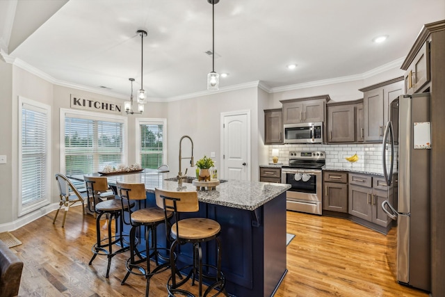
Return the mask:
<path id="1" fill-rule="evenodd" d="M 43 104 L 41 102 L 28 99 L 26 97 L 19 96 L 19 106 L 18 106 L 18 199 L 17 199 L 17 216 L 23 216 L 24 214 L 29 214 L 31 211 L 35 211 L 36 209 L 40 209 L 44 206 L 47 206 L 51 203 L 51 106 L 48 104 Z M 23 127 L 23 109 L 24 104 L 27 106 L 30 106 L 28 110 L 35 110 L 38 112 L 43 112 L 47 115 L 46 122 L 47 122 L 47 131 L 46 131 L 46 147 L 45 152 L 47 155 L 46 161 L 45 161 L 45 175 L 43 177 L 44 182 L 44 197 L 42 200 L 38 200 L 36 202 L 31 202 L 28 205 L 23 205 L 23 197 L 22 197 L 22 166 L 23 166 L 23 147 L 22 147 L 22 127 Z M 26 109 L 26 108 L 25 108 Z"/>

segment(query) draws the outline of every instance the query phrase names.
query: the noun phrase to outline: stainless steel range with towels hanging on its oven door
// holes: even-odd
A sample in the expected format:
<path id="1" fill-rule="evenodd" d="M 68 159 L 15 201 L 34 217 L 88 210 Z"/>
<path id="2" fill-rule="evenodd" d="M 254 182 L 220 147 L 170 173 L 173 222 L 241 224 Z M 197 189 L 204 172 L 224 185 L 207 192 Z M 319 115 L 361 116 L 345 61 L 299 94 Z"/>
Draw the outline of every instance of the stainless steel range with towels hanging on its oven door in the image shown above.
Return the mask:
<path id="1" fill-rule="evenodd" d="M 288 210 L 321 215 L 325 163 L 325 152 L 289 152 L 289 166 L 282 166 L 281 171 L 281 182 L 291 184 L 286 192 Z"/>

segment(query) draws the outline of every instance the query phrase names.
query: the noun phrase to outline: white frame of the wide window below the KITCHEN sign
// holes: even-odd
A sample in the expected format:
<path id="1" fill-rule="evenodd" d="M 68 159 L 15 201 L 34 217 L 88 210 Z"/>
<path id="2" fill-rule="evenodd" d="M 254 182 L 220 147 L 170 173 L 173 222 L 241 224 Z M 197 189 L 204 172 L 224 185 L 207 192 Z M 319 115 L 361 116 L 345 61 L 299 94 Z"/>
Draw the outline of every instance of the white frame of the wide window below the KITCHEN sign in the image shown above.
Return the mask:
<path id="1" fill-rule="evenodd" d="M 123 115 L 111 115 L 94 111 L 78 111 L 75 109 L 60 109 L 60 172 L 65 174 L 65 118 L 82 118 L 86 120 L 102 120 L 106 122 L 122 122 L 122 163 L 128 160 L 128 118 Z"/>

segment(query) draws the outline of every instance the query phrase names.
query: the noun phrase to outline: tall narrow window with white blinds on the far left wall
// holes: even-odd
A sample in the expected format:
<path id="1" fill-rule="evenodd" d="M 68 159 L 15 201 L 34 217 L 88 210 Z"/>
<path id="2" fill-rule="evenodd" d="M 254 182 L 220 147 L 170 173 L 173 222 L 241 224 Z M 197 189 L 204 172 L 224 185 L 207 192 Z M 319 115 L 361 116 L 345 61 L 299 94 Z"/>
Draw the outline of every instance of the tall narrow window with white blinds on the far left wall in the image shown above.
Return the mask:
<path id="1" fill-rule="evenodd" d="M 19 97 L 19 216 L 49 204 L 51 107 Z"/>

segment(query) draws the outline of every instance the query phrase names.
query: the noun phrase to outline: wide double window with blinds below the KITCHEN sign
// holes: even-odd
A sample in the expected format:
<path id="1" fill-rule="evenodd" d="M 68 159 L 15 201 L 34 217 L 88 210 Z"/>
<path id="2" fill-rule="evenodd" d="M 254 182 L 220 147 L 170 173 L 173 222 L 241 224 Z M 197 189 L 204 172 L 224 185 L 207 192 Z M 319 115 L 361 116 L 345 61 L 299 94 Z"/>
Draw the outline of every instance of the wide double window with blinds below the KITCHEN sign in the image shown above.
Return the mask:
<path id="1" fill-rule="evenodd" d="M 66 175 L 102 171 L 106 165 L 125 164 L 124 127 L 127 119 L 115 115 L 62 111 L 63 156 Z M 63 167 L 63 166 L 61 166 Z"/>

